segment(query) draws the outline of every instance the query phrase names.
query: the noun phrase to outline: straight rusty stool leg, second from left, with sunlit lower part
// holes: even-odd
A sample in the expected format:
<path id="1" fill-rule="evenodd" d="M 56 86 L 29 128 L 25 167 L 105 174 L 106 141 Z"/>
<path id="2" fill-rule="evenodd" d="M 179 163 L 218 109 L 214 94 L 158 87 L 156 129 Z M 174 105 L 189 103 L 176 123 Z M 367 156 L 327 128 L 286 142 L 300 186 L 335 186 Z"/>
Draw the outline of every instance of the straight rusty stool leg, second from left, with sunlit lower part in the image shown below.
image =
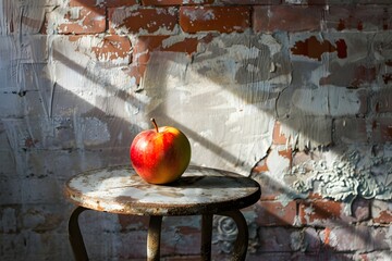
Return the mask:
<path id="1" fill-rule="evenodd" d="M 162 216 L 151 215 L 147 235 L 147 260 L 158 261 L 160 256 L 160 234 Z"/>

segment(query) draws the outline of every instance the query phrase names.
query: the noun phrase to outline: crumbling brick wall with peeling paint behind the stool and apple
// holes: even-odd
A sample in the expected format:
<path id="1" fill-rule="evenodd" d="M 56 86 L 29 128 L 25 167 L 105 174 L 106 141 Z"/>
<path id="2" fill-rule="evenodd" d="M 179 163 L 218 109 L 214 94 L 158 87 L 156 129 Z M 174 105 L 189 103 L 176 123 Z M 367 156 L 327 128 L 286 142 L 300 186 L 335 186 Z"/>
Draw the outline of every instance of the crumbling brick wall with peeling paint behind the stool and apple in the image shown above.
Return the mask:
<path id="1" fill-rule="evenodd" d="M 130 164 L 149 117 L 250 176 L 247 260 L 392 259 L 390 0 L 1 0 L 0 260 L 72 260 L 73 175 Z M 91 260 L 145 260 L 146 216 L 87 211 Z M 213 220 L 213 260 L 236 227 Z M 200 219 L 161 253 L 197 259 Z"/>

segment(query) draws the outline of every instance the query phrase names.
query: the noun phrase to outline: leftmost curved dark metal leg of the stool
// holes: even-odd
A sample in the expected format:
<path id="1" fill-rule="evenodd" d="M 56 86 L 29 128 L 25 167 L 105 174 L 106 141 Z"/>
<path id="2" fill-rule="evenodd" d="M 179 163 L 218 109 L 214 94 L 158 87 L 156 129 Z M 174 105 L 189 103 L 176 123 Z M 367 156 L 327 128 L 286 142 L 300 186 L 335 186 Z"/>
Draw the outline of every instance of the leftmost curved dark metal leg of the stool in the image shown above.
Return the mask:
<path id="1" fill-rule="evenodd" d="M 69 239 L 76 261 L 88 260 L 86 247 L 84 245 L 83 236 L 78 225 L 78 216 L 85 210 L 86 209 L 83 207 L 77 207 L 72 212 L 69 221 Z"/>

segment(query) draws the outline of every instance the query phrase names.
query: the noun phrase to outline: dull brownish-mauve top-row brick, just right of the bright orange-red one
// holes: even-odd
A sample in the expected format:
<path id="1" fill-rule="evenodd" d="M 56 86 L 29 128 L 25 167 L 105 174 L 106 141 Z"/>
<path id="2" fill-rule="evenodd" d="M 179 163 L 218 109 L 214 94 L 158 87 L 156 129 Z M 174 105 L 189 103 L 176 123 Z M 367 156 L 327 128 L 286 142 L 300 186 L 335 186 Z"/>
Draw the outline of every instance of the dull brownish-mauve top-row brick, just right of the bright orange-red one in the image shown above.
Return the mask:
<path id="1" fill-rule="evenodd" d="M 304 32 L 320 29 L 321 7 L 272 5 L 255 7 L 255 32 Z"/>

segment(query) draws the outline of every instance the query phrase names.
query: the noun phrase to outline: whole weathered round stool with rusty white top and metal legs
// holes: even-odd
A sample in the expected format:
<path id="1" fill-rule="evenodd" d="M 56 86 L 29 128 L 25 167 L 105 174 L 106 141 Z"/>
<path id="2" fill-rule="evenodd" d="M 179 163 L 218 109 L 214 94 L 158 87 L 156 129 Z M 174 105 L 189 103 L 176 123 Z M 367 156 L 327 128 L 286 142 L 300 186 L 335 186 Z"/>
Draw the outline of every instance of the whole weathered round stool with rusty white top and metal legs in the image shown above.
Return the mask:
<path id="1" fill-rule="evenodd" d="M 257 202 L 258 183 L 238 174 L 188 166 L 169 185 L 144 182 L 131 166 L 111 166 L 81 173 L 65 186 L 66 197 L 77 206 L 69 221 L 70 243 L 78 260 L 88 260 L 78 226 L 85 210 L 148 215 L 147 260 L 159 260 L 162 216 L 201 215 L 201 259 L 211 259 L 212 217 L 230 216 L 237 226 L 233 260 L 245 260 L 248 229 L 240 209 Z"/>

